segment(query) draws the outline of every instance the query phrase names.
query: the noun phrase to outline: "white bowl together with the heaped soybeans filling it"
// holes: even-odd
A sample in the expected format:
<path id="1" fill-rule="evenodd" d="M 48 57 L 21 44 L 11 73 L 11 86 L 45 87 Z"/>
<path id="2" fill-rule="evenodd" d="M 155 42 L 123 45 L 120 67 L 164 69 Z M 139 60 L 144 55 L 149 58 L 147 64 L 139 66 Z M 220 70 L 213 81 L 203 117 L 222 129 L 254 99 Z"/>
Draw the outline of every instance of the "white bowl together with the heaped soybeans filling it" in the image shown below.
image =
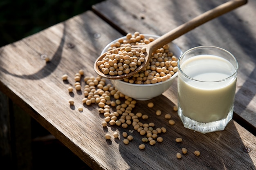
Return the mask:
<path id="1" fill-rule="evenodd" d="M 159 38 L 157 35 L 141 34 L 136 31 L 134 34 L 128 33 L 126 36 L 118 38 L 110 42 L 101 52 L 106 53 L 107 51 L 117 49 L 119 47 L 129 47 L 132 45 L 149 44 L 155 39 Z M 135 62 L 137 66 L 144 62 L 141 57 L 141 51 L 131 48 L 128 55 L 130 56 L 130 62 Z M 125 54 L 127 51 L 125 51 Z M 125 55 L 119 51 L 118 53 L 121 58 Z M 175 77 L 177 77 L 177 60 L 182 54 L 180 48 L 174 44 L 169 43 L 164 45 L 162 48 L 157 49 L 150 57 L 149 64 L 144 67 L 142 71 L 136 73 L 132 77 L 128 77 L 121 80 L 111 79 L 111 83 L 124 95 L 128 95 L 133 99 L 137 100 L 149 100 L 153 97 L 157 97 L 164 93 L 174 82 Z M 114 55 L 114 56 L 112 56 Z M 116 54 L 107 54 L 107 57 L 112 57 L 111 61 L 115 63 L 115 74 L 118 71 L 123 71 L 124 66 L 128 67 L 129 64 L 124 64 L 125 60 L 115 61 Z M 104 61 L 101 61 L 104 64 Z M 105 66 L 108 63 L 104 64 Z M 109 66 L 108 66 L 109 67 Z M 114 67 L 114 66 L 113 66 Z M 132 71 L 132 66 L 129 68 Z M 133 69 L 136 69 L 133 68 Z"/>

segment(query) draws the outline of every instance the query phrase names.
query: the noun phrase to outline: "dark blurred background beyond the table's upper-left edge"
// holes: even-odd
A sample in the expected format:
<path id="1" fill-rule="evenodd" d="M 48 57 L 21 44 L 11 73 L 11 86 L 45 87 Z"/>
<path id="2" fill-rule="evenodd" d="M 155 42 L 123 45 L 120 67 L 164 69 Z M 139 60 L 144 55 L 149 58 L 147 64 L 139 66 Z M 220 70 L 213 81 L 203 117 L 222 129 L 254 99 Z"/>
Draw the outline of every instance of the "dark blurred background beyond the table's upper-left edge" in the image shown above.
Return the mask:
<path id="1" fill-rule="evenodd" d="M 0 0 L 0 46 L 91 9 L 103 0 Z"/>

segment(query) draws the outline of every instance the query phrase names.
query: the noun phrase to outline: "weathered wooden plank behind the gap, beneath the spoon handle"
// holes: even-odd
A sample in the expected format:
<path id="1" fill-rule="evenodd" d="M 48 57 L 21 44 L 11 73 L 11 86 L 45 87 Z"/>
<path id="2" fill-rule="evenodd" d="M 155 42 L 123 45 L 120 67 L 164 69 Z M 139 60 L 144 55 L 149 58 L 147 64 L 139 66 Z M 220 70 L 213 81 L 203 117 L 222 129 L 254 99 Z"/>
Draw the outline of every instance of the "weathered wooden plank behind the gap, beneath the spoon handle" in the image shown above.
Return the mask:
<path id="1" fill-rule="evenodd" d="M 129 3 L 106 0 L 94 5 L 93 9 L 112 25 L 120 27 L 124 33 L 139 31 L 163 35 L 225 2 L 227 0 L 130 0 Z M 255 1 L 249 1 L 245 6 L 211 20 L 173 41 L 182 51 L 195 46 L 211 45 L 222 47 L 237 57 L 239 71 L 234 112 L 248 126 L 254 126 L 252 131 L 256 129 L 255 8 Z M 167 93 L 168 97 L 172 93 L 176 95 L 176 89 L 170 89 Z M 171 95 L 174 102 L 175 98 Z"/>

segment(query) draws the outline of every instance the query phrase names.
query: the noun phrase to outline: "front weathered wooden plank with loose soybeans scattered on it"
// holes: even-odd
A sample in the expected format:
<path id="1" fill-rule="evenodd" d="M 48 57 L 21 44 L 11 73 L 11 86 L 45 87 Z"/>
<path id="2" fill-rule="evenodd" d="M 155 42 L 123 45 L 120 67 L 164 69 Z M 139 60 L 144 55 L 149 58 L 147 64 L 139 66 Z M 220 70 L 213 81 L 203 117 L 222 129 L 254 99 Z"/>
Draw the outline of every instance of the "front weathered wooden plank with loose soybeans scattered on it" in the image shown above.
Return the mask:
<path id="1" fill-rule="evenodd" d="M 96 36 L 97 33 L 101 36 Z M 103 128 L 103 116 L 97 105 L 83 105 L 82 93 L 68 93 L 67 88 L 74 85 L 74 74 L 79 69 L 83 69 L 85 75 L 96 75 L 92 64 L 103 46 L 120 36 L 88 11 L 4 46 L 0 49 L 0 89 L 93 169 L 184 169 L 187 165 L 191 169 L 255 169 L 254 135 L 235 121 L 222 132 L 206 135 L 184 128 L 177 112 L 172 109 L 175 105 L 171 100 L 175 98 L 172 91 L 150 101 L 138 101 L 132 110 L 149 116 L 141 122 L 166 127 L 167 132 L 159 134 L 164 139 L 162 143 L 154 146 L 147 143 L 146 149 L 140 150 L 142 137 L 137 131 L 129 132 L 131 126 L 126 129 L 118 126 Z M 68 48 L 68 43 L 74 44 L 74 48 Z M 41 60 L 42 54 L 49 56 L 51 61 Z M 68 82 L 62 81 L 63 74 L 69 75 Z M 70 106 L 68 99 L 74 99 L 75 105 Z M 148 102 L 154 102 L 154 108 L 148 108 Z M 83 112 L 78 111 L 79 106 L 83 107 Z M 156 110 L 162 110 L 162 115 L 157 117 Z M 171 114 L 175 125 L 168 124 L 164 118 L 167 113 Z M 123 131 L 134 137 L 128 145 L 122 142 L 122 136 L 105 139 L 107 133 L 119 132 L 121 135 Z M 177 144 L 176 137 L 182 137 L 183 142 Z M 177 159 L 176 153 L 181 152 L 182 147 L 189 152 Z M 252 151 L 244 152 L 244 147 Z M 201 155 L 193 155 L 194 150 L 200 150 Z"/>

